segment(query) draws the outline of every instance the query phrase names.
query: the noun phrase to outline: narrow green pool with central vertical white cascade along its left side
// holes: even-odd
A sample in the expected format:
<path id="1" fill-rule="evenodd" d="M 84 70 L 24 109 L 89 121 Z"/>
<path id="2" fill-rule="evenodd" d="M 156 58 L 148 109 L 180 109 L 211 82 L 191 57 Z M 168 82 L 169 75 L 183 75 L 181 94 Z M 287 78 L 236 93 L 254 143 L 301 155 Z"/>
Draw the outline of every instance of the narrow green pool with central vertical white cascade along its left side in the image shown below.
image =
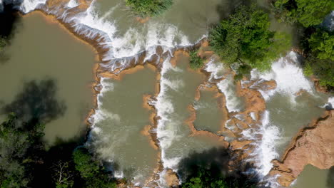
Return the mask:
<path id="1" fill-rule="evenodd" d="M 163 112 L 160 113 L 162 120 L 158 123 L 163 162 L 165 167 L 172 168 L 192 152 L 202 152 L 221 145 L 221 142 L 206 135 L 192 135 L 193 132 L 186 123 L 191 116 L 188 107 L 193 103 L 196 88 L 203 82 L 204 75 L 189 71 L 187 56 L 176 57 L 175 68 L 172 68 L 169 62 L 164 62 L 166 64 L 163 69 L 166 69 L 166 72 L 161 78 L 163 95 L 160 95 L 157 102 L 158 112 Z"/>

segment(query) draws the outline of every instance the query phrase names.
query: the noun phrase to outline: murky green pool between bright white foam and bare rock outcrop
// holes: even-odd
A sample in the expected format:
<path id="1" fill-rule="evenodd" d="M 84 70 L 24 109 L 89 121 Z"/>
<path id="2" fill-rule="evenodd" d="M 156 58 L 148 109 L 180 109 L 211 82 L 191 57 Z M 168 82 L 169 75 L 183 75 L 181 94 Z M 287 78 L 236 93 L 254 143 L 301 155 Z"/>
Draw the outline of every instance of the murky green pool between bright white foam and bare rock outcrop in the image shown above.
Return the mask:
<path id="1" fill-rule="evenodd" d="M 326 99 L 321 93 L 303 93 L 295 98 L 294 103 L 288 96 L 278 93 L 268 100 L 266 105 L 270 112 L 270 123 L 281 130 L 282 139 L 277 147 L 280 155 L 283 155 L 300 128 L 323 115 L 325 109 L 320 108 L 320 104 L 326 103 Z"/>

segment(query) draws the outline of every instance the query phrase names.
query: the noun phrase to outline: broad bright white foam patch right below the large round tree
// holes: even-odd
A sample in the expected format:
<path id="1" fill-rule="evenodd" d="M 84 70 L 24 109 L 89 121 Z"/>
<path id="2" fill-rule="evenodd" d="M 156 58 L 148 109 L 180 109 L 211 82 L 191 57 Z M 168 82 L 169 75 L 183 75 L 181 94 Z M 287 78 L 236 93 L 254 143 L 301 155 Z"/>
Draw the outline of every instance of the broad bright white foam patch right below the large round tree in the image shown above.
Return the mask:
<path id="1" fill-rule="evenodd" d="M 271 70 L 265 73 L 251 71 L 251 79 L 275 80 L 277 87 L 275 90 L 259 90 L 265 100 L 270 99 L 276 92 L 290 95 L 291 101 L 295 101 L 296 93 L 305 90 L 314 93 L 313 83 L 303 75 L 303 69 L 298 63 L 297 53 L 291 51 L 285 58 L 280 58 L 274 62 Z"/>

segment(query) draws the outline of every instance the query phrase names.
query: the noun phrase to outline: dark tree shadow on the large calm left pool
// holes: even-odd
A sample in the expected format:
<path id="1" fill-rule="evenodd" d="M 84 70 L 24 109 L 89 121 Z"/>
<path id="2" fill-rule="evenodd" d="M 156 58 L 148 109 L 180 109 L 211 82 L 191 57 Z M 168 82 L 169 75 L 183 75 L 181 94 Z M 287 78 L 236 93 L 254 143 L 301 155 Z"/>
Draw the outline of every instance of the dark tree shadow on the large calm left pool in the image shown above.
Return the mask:
<path id="1" fill-rule="evenodd" d="M 1 108 L 1 114 L 15 113 L 23 122 L 46 124 L 64 115 L 66 105 L 56 98 L 56 82 L 52 79 L 25 82 L 21 93 Z"/>

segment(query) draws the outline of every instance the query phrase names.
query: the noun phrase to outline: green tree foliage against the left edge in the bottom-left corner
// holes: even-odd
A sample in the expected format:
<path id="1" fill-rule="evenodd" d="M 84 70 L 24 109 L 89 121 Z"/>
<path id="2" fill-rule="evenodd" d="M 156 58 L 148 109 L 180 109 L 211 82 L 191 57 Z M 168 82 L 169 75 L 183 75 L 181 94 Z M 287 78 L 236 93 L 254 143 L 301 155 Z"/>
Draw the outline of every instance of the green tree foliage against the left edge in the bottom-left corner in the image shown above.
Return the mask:
<path id="1" fill-rule="evenodd" d="M 22 123 L 13 113 L 0 125 L 0 187 L 26 187 L 31 177 L 28 169 L 37 162 L 33 152 L 44 150 L 36 142 L 44 135 L 39 123 Z"/>

